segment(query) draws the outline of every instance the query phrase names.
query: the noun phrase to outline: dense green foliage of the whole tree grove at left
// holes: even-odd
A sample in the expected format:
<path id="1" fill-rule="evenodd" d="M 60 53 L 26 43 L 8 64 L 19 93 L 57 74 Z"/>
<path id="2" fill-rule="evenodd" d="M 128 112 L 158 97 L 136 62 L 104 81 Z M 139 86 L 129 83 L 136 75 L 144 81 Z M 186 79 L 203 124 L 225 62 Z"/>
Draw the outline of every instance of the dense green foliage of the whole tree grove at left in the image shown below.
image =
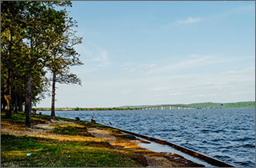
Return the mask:
<path id="1" fill-rule="evenodd" d="M 70 66 L 82 64 L 74 50 L 81 38 L 71 31 L 75 21 L 66 6 L 71 2 L 1 2 L 1 108 L 10 118 L 25 104 L 26 126 L 32 104 L 48 91 L 47 70 L 55 72 L 57 82 L 81 83 L 70 73 Z"/>

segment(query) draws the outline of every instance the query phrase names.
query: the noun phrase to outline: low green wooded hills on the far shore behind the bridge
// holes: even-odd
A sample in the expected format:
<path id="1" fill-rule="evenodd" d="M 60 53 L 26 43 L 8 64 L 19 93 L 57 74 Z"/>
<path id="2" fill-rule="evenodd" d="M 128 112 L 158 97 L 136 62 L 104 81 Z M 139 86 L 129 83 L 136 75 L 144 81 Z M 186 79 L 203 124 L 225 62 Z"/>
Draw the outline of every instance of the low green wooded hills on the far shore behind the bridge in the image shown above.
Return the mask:
<path id="1" fill-rule="evenodd" d="M 255 108 L 255 101 L 251 102 L 199 102 L 191 104 L 161 104 L 161 105 L 142 105 L 142 106 L 119 106 L 119 108 L 143 108 L 154 106 L 186 106 L 198 109 L 228 109 L 228 108 Z"/>

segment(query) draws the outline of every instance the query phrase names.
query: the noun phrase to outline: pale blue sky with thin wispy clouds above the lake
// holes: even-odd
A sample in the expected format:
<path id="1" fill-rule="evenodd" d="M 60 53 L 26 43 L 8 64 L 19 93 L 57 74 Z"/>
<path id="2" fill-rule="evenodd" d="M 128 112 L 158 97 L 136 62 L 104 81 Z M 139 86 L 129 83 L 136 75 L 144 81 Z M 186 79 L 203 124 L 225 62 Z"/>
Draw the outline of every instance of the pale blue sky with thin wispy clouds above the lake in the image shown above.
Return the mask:
<path id="1" fill-rule="evenodd" d="M 84 65 L 70 69 L 82 86 L 57 84 L 56 107 L 255 100 L 255 2 L 75 1 L 68 10 L 83 37 Z"/>

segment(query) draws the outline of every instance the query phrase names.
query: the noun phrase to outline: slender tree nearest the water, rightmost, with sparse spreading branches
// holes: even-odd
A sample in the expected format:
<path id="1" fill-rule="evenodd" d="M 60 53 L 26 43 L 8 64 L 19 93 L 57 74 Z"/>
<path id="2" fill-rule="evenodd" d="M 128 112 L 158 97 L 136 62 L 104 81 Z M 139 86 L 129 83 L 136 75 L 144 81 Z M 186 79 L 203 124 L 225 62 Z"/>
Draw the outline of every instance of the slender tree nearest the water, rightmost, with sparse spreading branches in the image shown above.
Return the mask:
<path id="1" fill-rule="evenodd" d="M 83 63 L 79 60 L 79 54 L 74 46 L 82 43 L 82 38 L 75 36 L 71 28 L 76 25 L 73 18 L 67 16 L 66 10 L 52 11 L 53 24 L 48 33 L 50 61 L 47 67 L 52 74 L 52 102 L 51 118 L 55 119 L 55 92 L 56 83 L 79 84 L 81 80 L 76 74 L 70 73 L 70 66 L 79 66 Z"/>

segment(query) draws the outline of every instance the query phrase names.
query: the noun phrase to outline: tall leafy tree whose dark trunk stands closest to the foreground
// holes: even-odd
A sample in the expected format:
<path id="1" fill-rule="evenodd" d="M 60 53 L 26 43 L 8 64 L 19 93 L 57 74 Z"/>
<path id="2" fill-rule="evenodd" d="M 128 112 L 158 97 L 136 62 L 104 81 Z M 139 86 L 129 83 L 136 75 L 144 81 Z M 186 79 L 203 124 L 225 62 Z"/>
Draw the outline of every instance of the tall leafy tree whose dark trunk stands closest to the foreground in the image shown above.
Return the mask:
<path id="1" fill-rule="evenodd" d="M 48 58 L 44 46 L 48 22 L 49 6 L 44 2 L 26 2 L 23 21 L 26 24 L 26 73 L 27 91 L 26 91 L 26 127 L 30 127 L 31 109 L 32 109 L 32 81 L 38 74 L 45 74 L 43 70 L 44 62 Z"/>

